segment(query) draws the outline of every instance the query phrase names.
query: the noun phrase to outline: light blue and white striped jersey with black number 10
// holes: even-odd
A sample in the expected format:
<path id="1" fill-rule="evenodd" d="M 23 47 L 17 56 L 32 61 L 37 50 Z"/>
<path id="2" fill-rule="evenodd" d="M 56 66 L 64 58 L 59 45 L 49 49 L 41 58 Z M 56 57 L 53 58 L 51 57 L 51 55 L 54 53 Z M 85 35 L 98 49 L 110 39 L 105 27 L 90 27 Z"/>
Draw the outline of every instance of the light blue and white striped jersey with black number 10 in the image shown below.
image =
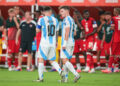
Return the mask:
<path id="1" fill-rule="evenodd" d="M 55 17 L 44 16 L 37 23 L 37 28 L 41 29 L 40 46 L 56 46 L 56 31 L 59 30 L 59 22 Z"/>

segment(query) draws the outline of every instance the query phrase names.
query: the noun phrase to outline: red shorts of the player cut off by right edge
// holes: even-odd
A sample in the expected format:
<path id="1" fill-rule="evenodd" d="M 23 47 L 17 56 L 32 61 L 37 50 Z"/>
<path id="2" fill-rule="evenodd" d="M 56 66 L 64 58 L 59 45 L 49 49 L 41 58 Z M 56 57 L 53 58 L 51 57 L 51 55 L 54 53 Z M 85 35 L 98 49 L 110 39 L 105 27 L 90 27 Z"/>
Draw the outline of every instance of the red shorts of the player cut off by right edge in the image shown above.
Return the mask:
<path id="1" fill-rule="evenodd" d="M 120 42 L 113 42 L 111 46 L 112 55 L 120 55 Z"/>

